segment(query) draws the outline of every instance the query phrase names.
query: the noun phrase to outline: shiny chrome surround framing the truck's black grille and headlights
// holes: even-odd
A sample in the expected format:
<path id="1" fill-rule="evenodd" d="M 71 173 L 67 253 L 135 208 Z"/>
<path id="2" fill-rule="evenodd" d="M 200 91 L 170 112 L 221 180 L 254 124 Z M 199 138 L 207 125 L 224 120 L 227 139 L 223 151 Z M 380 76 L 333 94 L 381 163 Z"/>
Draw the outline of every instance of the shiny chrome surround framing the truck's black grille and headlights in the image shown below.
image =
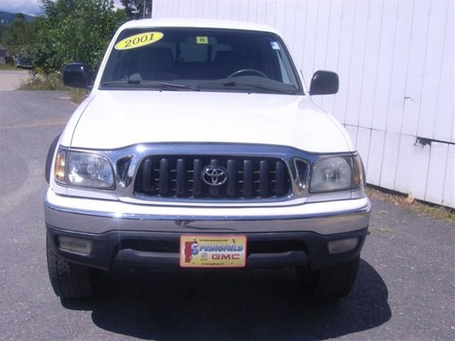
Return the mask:
<path id="1" fill-rule="evenodd" d="M 361 197 L 363 188 L 344 190 L 330 194 L 311 194 L 308 190 L 311 168 L 321 158 L 337 155 L 352 156 L 355 152 L 348 153 L 309 153 L 289 146 L 276 146 L 267 144 L 218 144 L 218 143 L 154 143 L 136 144 L 124 148 L 109 150 L 90 150 L 87 148 L 64 147 L 68 151 L 85 151 L 106 156 L 112 162 L 116 187 L 114 190 L 81 189 L 74 186 L 58 185 L 57 193 L 73 195 L 76 197 L 100 197 L 107 200 L 120 200 L 146 205 L 178 205 L 178 206 L 205 206 L 205 207 L 267 207 L 299 205 L 304 202 L 316 202 L 326 200 L 344 200 Z M 255 157 L 275 158 L 281 160 L 289 173 L 290 190 L 282 197 L 250 197 L 250 198 L 193 198 L 193 197 L 151 197 L 136 193 L 136 182 L 139 166 L 149 156 L 223 156 L 223 157 Z M 308 165 L 306 178 L 302 179 L 297 174 L 296 161 Z M 126 166 L 125 166 L 126 165 Z M 57 187 L 57 186 L 56 186 Z M 59 189 L 60 188 L 60 189 Z M 64 190 L 66 189 L 66 190 Z"/>

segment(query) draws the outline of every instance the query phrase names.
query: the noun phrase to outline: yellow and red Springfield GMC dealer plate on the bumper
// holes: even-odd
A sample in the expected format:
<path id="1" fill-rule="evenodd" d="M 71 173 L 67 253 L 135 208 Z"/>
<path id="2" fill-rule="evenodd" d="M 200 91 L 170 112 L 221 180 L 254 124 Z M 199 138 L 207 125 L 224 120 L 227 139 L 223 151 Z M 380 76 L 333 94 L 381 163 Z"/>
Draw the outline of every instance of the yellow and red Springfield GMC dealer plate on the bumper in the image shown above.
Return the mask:
<path id="1" fill-rule="evenodd" d="M 247 263 L 247 237 L 237 235 L 182 235 L 183 268 L 242 268 Z"/>

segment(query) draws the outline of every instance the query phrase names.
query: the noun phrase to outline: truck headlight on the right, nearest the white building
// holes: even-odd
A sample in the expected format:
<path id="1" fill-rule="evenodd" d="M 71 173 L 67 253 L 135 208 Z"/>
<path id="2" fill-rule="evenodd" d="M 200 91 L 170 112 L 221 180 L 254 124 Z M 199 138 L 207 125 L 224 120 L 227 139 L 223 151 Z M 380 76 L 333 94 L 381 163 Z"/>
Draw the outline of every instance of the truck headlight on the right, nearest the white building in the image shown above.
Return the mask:
<path id="1" fill-rule="evenodd" d="M 310 192 L 357 188 L 363 181 L 362 174 L 362 163 L 357 155 L 323 158 L 313 168 Z"/>

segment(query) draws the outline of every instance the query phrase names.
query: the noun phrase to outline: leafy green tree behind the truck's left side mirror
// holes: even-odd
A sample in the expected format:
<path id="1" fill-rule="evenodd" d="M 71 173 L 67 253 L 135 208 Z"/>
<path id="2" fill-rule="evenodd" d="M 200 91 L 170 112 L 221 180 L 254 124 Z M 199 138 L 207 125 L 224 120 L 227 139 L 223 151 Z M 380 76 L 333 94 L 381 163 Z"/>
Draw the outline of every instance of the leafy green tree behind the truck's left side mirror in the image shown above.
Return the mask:
<path id="1" fill-rule="evenodd" d="M 125 21 L 124 10 L 112 0 L 43 0 L 38 16 L 38 44 L 35 64 L 45 73 L 58 72 L 71 62 L 85 62 L 96 68 L 105 49 Z"/>

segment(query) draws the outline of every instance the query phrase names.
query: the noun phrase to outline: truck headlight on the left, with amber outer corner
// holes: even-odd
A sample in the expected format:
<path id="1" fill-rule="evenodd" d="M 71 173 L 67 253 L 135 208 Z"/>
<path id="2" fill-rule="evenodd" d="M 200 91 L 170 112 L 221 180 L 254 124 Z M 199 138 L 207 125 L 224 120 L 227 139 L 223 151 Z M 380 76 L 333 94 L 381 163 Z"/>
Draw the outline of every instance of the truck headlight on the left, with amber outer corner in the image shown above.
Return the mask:
<path id="1" fill-rule="evenodd" d="M 111 163 L 105 156 L 95 153 L 58 151 L 54 175 L 55 180 L 68 185 L 114 188 L 114 172 Z"/>

